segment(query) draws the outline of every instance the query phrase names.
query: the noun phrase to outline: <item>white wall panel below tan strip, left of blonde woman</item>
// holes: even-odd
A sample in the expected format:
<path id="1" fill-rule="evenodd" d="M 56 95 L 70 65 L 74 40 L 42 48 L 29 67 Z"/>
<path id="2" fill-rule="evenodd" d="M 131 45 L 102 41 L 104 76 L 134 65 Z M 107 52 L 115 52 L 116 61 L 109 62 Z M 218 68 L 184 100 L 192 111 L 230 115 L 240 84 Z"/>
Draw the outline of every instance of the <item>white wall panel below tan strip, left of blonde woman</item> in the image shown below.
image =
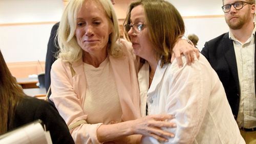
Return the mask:
<path id="1" fill-rule="evenodd" d="M 0 27 L 0 49 L 6 62 L 45 61 L 53 25 Z"/>

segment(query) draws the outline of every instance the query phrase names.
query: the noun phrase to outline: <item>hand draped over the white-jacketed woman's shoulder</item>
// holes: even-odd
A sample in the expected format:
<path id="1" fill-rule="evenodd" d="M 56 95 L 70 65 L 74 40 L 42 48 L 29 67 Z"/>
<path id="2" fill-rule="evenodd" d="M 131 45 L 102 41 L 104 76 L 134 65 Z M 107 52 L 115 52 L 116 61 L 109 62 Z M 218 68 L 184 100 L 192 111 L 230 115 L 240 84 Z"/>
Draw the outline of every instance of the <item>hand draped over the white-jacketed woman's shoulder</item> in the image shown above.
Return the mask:
<path id="1" fill-rule="evenodd" d="M 181 56 L 184 55 L 187 60 L 187 64 L 190 65 L 191 62 L 195 60 L 194 53 L 196 53 L 197 58 L 199 58 L 199 50 L 194 46 L 192 42 L 187 42 L 185 39 L 178 39 L 172 50 L 171 62 L 176 58 L 177 63 L 180 67 L 183 66 Z"/>

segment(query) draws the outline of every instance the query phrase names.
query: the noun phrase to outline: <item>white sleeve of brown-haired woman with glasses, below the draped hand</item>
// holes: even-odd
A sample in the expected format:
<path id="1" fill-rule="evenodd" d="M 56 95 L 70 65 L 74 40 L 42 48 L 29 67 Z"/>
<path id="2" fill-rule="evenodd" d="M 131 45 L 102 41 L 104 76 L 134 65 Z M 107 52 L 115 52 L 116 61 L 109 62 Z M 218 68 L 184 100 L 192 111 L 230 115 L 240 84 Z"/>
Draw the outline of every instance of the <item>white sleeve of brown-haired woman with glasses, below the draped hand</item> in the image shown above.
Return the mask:
<path id="1" fill-rule="evenodd" d="M 184 60 L 184 59 L 183 59 Z M 192 143 L 201 127 L 208 107 L 212 80 L 210 68 L 200 61 L 191 66 L 179 68 L 173 63 L 169 91 L 166 97 L 165 110 L 175 115 L 170 122 L 177 128 L 170 129 L 175 133 L 168 143 Z"/>

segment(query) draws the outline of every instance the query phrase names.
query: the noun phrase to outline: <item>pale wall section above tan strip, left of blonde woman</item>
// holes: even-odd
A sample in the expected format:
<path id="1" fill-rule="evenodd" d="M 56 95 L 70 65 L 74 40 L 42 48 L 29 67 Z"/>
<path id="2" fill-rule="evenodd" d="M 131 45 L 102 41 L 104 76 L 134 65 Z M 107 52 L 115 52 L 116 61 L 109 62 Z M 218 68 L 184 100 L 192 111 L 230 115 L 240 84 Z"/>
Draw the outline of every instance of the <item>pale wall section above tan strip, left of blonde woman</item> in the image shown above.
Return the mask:
<path id="1" fill-rule="evenodd" d="M 61 0 L 0 0 L 0 23 L 58 21 Z"/>

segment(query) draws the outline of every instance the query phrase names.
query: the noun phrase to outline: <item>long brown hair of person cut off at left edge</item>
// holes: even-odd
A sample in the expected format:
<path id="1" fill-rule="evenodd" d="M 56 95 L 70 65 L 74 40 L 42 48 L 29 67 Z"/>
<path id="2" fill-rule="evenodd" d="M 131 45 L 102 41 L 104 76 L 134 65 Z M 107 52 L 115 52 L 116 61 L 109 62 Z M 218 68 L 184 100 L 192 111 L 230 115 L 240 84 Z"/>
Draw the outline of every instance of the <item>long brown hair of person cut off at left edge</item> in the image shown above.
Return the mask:
<path id="1" fill-rule="evenodd" d="M 24 95 L 0 51 L 0 135 L 7 132 L 8 127 L 12 125 L 15 107 Z"/>

